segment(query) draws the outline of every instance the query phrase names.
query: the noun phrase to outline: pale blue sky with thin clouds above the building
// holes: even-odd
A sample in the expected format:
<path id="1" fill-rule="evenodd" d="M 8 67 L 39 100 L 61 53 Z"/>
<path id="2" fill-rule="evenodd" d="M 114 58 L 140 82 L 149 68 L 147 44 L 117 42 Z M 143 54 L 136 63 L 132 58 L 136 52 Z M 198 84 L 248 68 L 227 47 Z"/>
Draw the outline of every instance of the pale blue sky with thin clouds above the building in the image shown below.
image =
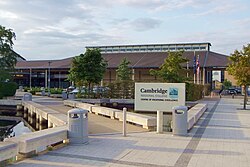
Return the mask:
<path id="1" fill-rule="evenodd" d="M 230 55 L 250 43 L 249 0 L 0 0 L 0 25 L 27 60 L 85 46 L 210 42 Z"/>

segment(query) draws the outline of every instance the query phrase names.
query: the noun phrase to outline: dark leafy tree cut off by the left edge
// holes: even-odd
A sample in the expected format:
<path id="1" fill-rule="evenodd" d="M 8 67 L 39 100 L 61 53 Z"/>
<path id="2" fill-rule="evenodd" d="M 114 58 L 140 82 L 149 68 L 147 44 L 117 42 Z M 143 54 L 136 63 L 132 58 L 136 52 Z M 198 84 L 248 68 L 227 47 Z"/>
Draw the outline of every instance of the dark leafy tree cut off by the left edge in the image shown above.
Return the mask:
<path id="1" fill-rule="evenodd" d="M 10 72 L 14 70 L 17 62 L 16 54 L 13 53 L 13 39 L 16 35 L 11 29 L 0 25 L 0 81 L 11 78 Z"/>

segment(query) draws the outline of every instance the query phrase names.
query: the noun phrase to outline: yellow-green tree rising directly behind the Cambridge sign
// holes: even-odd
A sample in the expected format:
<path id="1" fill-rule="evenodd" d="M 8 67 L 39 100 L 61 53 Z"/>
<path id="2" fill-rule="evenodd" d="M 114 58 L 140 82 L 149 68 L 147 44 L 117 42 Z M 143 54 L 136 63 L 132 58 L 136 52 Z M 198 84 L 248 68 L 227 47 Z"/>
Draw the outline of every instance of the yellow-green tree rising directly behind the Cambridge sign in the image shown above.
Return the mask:
<path id="1" fill-rule="evenodd" d="M 160 70 L 151 69 L 149 72 L 151 75 L 158 76 L 166 82 L 178 83 L 184 82 L 187 78 L 184 76 L 186 69 L 181 66 L 182 63 L 186 63 L 188 60 L 182 57 L 183 51 L 180 52 L 168 52 L 168 57 L 164 60 L 164 63 L 160 66 Z"/>

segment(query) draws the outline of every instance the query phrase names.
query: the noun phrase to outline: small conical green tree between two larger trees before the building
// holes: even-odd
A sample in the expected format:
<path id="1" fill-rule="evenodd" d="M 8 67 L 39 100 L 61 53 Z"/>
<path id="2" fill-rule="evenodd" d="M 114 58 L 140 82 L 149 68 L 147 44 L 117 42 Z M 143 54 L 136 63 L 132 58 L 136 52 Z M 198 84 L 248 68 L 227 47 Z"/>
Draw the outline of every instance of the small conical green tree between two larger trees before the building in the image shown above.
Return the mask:
<path id="1" fill-rule="evenodd" d="M 116 70 L 118 80 L 131 80 L 132 70 L 129 68 L 130 64 L 130 61 L 128 61 L 126 57 L 122 59 L 121 63 L 118 66 L 118 69 Z"/>

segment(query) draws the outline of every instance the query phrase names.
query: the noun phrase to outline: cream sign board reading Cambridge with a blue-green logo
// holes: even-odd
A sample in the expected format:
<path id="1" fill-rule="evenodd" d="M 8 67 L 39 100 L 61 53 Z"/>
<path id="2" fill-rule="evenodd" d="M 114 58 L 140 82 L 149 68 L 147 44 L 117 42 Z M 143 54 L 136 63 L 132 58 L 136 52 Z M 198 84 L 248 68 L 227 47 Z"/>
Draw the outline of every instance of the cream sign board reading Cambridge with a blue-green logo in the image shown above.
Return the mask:
<path id="1" fill-rule="evenodd" d="M 185 83 L 135 83 L 136 111 L 171 111 L 185 105 Z"/>

